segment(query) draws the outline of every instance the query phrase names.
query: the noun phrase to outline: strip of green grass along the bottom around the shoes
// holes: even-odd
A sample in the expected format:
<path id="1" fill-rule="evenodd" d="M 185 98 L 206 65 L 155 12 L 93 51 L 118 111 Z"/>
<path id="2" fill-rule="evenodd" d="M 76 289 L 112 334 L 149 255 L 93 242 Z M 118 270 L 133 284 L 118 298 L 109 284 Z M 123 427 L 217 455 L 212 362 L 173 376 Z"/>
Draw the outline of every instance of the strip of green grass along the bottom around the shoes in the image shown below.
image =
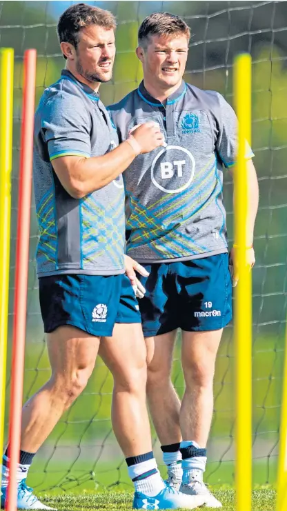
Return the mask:
<path id="1" fill-rule="evenodd" d="M 223 508 L 222 511 L 235 510 L 235 491 L 232 489 L 221 489 L 213 492 L 219 499 Z M 51 497 L 42 494 L 41 500 L 58 510 L 123 510 L 132 509 L 132 492 L 104 492 L 82 494 L 60 494 Z M 204 508 L 207 510 L 208 508 Z M 253 511 L 275 511 L 275 490 L 272 488 L 259 488 L 253 490 Z"/>

